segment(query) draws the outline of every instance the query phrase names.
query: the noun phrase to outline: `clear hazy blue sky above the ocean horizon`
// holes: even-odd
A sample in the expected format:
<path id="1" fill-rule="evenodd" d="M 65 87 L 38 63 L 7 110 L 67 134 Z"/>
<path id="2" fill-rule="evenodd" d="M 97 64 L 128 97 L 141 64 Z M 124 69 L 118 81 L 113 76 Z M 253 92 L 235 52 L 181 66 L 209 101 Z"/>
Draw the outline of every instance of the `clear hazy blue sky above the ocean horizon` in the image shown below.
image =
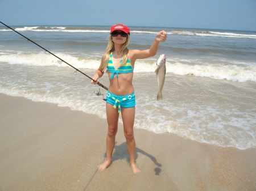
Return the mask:
<path id="1" fill-rule="evenodd" d="M 256 31 L 256 0 L 0 0 L 9 26 L 126 26 Z"/>

